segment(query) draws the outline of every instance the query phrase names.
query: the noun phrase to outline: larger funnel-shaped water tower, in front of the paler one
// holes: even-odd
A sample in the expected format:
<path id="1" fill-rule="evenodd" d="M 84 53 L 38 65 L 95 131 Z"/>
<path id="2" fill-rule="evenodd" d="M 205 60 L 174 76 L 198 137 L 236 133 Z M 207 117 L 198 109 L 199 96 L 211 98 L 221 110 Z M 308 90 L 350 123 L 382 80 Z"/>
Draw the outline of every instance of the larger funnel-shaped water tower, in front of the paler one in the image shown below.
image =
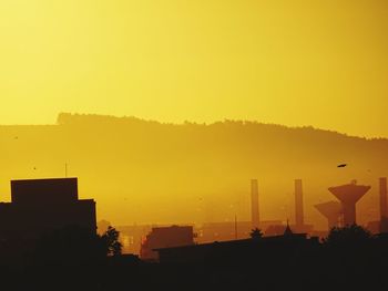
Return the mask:
<path id="1" fill-rule="evenodd" d="M 356 224 L 356 202 L 370 189 L 370 186 L 357 185 L 356 180 L 343 186 L 330 187 L 329 191 L 343 206 L 344 226 Z"/>

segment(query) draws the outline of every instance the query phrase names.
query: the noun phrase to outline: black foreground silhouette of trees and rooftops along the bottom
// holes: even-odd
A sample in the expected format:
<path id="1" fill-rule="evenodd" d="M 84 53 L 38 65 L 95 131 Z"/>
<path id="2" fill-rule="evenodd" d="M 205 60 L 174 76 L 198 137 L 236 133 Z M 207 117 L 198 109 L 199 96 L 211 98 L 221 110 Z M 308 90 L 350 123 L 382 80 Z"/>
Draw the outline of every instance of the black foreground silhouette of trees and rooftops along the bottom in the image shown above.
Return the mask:
<path id="1" fill-rule="evenodd" d="M 28 248 L 2 241 L 1 290 L 388 290 L 385 235 L 350 226 L 306 245 L 264 243 L 259 233 L 248 243 L 214 243 L 203 260 L 180 263 L 120 254 L 112 228 L 101 237 L 65 228 Z"/>

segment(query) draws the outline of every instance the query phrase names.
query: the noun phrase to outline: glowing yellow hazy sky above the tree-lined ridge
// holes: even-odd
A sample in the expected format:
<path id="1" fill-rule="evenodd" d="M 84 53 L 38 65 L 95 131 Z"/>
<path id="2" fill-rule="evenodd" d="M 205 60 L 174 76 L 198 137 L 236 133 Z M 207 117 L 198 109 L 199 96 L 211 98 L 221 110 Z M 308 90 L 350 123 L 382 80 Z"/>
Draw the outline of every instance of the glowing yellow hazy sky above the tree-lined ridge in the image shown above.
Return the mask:
<path id="1" fill-rule="evenodd" d="M 0 124 L 59 112 L 388 137 L 388 1 L 0 1 Z"/>

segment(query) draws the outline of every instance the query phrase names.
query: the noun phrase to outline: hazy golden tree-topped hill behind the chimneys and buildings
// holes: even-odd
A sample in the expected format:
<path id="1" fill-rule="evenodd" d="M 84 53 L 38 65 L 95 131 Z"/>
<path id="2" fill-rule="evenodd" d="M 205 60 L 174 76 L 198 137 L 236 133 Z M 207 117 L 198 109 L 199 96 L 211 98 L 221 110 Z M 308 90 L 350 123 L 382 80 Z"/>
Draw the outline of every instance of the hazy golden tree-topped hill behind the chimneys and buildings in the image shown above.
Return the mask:
<path id="1" fill-rule="evenodd" d="M 372 186 L 359 221 L 378 218 L 378 178 L 388 176 L 388 139 L 256 122 L 162 124 L 135 117 L 62 113 L 57 125 L 0 126 L 0 194 L 12 178 L 80 178 L 81 197 L 114 224 L 249 219 L 249 180 L 259 184 L 263 219 L 294 218 L 302 178 L 306 220 L 325 227 L 313 205 L 329 186 Z M 338 168 L 337 165 L 347 164 Z"/>

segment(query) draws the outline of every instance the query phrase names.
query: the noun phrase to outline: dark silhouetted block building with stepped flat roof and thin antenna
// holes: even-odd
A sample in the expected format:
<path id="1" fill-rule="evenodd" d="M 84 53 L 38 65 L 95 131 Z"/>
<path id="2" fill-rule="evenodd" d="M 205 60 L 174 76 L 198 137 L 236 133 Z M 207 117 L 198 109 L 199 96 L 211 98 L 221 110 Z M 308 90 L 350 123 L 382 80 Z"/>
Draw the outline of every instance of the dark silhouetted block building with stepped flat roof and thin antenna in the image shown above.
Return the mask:
<path id="1" fill-rule="evenodd" d="M 37 239 L 68 226 L 96 231 L 95 201 L 78 198 L 78 179 L 11 181 L 11 202 L 0 204 L 0 238 Z"/>

